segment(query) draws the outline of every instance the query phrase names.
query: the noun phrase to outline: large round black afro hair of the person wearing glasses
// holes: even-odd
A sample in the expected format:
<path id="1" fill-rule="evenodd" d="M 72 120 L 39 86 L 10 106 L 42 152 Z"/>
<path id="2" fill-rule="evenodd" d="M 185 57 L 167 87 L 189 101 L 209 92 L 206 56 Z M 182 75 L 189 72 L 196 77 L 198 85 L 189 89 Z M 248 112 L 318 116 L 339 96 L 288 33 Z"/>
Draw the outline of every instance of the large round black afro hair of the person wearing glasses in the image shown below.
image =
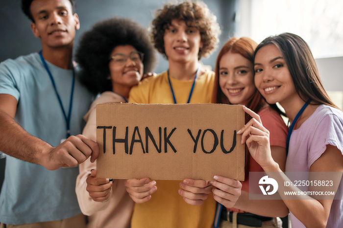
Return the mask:
<path id="1" fill-rule="evenodd" d="M 126 18 L 110 18 L 93 25 L 85 32 L 75 53 L 80 66 L 80 81 L 94 94 L 112 91 L 108 76 L 110 54 L 116 46 L 131 45 L 144 53 L 144 73 L 155 66 L 155 50 L 147 29 Z"/>

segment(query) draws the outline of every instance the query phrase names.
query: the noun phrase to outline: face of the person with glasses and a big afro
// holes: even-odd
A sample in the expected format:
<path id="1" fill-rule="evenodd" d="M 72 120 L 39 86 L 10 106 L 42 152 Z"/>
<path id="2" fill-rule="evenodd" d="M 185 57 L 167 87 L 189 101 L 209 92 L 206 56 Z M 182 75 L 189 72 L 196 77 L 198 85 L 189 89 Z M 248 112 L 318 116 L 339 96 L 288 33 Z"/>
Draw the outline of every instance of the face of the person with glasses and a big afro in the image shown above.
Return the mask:
<path id="1" fill-rule="evenodd" d="M 137 51 L 131 45 L 116 46 L 111 52 L 111 57 L 120 54 L 123 56 L 130 56 L 130 53 Z M 112 80 L 113 91 L 125 96 L 121 91 L 129 91 L 132 86 L 137 85 L 142 79 L 143 63 L 141 60 L 131 60 L 129 57 L 127 61 L 119 63 L 113 59 L 109 62 L 110 77 Z"/>

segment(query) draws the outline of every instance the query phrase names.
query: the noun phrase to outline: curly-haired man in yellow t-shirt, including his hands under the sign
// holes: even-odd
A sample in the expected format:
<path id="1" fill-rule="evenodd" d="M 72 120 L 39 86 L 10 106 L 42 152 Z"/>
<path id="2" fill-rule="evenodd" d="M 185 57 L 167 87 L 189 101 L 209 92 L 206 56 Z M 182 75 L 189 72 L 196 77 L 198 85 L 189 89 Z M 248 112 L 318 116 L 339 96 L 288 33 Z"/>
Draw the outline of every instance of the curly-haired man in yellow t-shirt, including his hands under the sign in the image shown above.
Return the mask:
<path id="1" fill-rule="evenodd" d="M 129 102 L 145 104 L 209 103 L 214 72 L 200 66 L 218 43 L 216 17 L 201 1 L 165 4 L 157 10 L 151 37 L 169 69 L 147 78 L 130 91 Z M 132 228 L 210 228 L 216 202 L 209 182 L 185 179 L 125 181 L 134 207 Z M 207 199 L 207 200 L 206 200 Z"/>

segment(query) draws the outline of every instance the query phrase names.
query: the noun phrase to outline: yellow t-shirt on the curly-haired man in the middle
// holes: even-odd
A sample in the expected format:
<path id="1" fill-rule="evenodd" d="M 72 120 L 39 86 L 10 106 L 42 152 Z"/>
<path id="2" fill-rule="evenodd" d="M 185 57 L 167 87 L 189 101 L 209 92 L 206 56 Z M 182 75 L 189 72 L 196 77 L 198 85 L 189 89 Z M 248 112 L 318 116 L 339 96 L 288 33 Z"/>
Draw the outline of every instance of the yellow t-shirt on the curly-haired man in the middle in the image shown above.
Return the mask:
<path id="1" fill-rule="evenodd" d="M 171 79 L 178 104 L 186 103 L 193 80 Z M 214 72 L 206 71 L 196 79 L 190 103 L 210 103 Z M 143 80 L 130 91 L 129 102 L 142 104 L 173 104 L 167 72 Z M 202 205 L 189 205 L 178 194 L 181 181 L 157 180 L 157 191 L 151 199 L 134 206 L 132 228 L 211 228 L 216 201 L 210 194 Z"/>

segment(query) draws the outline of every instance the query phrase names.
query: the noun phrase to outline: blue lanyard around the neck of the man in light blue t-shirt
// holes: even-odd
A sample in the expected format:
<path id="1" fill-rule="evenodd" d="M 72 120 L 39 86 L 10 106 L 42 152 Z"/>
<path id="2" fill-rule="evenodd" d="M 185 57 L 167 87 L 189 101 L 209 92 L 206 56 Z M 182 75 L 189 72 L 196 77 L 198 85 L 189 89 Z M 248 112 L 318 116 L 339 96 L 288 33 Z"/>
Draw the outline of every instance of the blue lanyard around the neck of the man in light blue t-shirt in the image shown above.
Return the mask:
<path id="1" fill-rule="evenodd" d="M 55 84 L 55 81 L 53 80 L 53 77 L 52 77 L 52 74 L 49 70 L 49 67 L 47 65 L 47 63 L 45 62 L 44 58 L 43 58 L 43 54 L 42 54 L 42 50 L 39 51 L 39 56 L 41 57 L 41 60 L 42 60 L 42 63 L 45 67 L 45 69 L 47 70 L 48 74 L 49 74 L 49 77 L 50 77 L 50 80 L 51 80 L 51 83 L 52 83 L 52 86 L 53 88 L 55 89 L 55 92 L 56 92 L 56 95 L 57 95 L 57 98 L 58 98 L 58 101 L 59 101 L 59 104 L 61 106 L 61 109 L 62 109 L 62 112 L 63 112 L 63 115 L 64 115 L 64 118 L 66 120 L 66 125 L 67 125 L 67 138 L 70 137 L 70 119 L 71 119 L 71 116 L 72 116 L 72 107 L 73 107 L 73 94 L 74 94 L 74 87 L 75 87 L 75 72 L 74 72 L 74 68 L 73 68 L 73 82 L 72 82 L 72 92 L 71 92 L 71 95 L 70 95 L 70 102 L 69 102 L 69 112 L 68 112 L 68 116 L 63 108 L 63 104 L 62 104 L 62 100 L 61 100 L 61 97 L 57 91 L 57 88 L 56 88 L 56 84 Z"/>

